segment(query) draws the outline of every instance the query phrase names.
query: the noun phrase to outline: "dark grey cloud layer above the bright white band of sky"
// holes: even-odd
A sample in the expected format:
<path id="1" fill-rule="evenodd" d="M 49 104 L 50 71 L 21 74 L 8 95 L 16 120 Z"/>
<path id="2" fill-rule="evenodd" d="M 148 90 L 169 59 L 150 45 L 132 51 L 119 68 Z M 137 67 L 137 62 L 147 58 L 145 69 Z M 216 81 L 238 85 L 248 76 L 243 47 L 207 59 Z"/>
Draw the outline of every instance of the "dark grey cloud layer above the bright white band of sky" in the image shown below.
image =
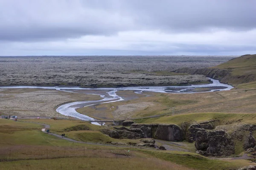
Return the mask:
<path id="1" fill-rule="evenodd" d="M 256 28 L 255 0 L 2 0 L 0 40 L 41 41 L 119 31 Z"/>

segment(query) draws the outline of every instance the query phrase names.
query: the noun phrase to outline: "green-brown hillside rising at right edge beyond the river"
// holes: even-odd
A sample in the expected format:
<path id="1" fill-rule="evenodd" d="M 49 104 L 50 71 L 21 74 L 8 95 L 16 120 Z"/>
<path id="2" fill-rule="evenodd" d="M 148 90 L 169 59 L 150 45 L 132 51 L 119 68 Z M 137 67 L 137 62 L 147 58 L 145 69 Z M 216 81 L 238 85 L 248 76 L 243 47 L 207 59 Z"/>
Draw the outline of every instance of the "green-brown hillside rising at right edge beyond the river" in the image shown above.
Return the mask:
<path id="1" fill-rule="evenodd" d="M 254 88 L 256 87 L 256 54 L 243 55 L 211 68 L 182 68 L 175 72 L 203 74 L 238 88 Z"/>

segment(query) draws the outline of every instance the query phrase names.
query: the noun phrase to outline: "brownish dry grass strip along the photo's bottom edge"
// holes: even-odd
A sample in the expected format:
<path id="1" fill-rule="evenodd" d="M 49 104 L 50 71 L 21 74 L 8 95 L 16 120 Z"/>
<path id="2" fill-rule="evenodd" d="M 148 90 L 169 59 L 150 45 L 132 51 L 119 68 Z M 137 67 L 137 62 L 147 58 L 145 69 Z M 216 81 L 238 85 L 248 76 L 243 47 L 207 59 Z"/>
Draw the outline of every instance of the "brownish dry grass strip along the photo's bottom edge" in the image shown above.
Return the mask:
<path id="1" fill-rule="evenodd" d="M 192 170 L 190 168 L 155 158 L 61 158 L 2 162 L 2 170 Z"/>

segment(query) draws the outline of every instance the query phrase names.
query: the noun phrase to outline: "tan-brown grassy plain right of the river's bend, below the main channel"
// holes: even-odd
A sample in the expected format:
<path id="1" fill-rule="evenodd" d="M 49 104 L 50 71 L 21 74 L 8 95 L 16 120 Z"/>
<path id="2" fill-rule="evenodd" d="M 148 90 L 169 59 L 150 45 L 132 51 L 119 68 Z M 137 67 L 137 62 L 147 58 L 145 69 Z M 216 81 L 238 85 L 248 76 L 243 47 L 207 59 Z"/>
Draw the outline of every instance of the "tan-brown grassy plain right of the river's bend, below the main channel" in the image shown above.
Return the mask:
<path id="1" fill-rule="evenodd" d="M 133 91 L 118 91 L 120 96 Z M 232 89 L 197 94 L 162 94 L 144 92 L 136 99 L 105 103 L 77 111 L 102 120 L 134 119 L 164 113 L 255 113 L 256 89 Z"/>

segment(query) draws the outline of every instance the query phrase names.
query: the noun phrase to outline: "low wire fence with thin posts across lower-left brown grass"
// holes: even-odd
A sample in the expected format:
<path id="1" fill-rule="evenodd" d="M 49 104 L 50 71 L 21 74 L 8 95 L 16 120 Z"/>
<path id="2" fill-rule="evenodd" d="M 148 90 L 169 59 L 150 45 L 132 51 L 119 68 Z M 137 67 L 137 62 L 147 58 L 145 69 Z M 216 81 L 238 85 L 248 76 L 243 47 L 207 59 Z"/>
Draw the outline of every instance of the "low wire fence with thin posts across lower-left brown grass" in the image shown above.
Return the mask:
<path id="1" fill-rule="evenodd" d="M 2 148 L 0 149 L 0 162 L 1 161 L 17 161 L 17 160 L 30 160 L 30 159 L 54 159 L 54 158 L 67 158 L 67 157 L 105 157 L 105 158 L 118 158 L 120 156 L 131 156 L 130 150 L 115 149 L 87 149 L 85 147 L 20 147 L 15 148 Z"/>

